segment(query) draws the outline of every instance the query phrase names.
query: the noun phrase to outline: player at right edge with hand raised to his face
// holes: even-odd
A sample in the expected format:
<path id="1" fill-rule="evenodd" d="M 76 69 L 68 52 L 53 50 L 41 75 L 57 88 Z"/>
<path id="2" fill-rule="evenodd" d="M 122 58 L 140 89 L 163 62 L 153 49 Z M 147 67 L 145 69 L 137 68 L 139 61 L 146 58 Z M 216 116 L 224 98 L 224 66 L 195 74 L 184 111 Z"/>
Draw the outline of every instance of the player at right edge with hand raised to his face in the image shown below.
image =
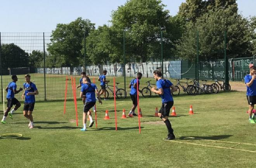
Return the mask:
<path id="1" fill-rule="evenodd" d="M 256 67 L 250 66 L 250 74 L 244 77 L 244 82 L 247 87 L 246 97 L 249 104 L 249 123 L 256 123 L 256 114 L 253 113 L 254 104 L 256 104 Z"/>

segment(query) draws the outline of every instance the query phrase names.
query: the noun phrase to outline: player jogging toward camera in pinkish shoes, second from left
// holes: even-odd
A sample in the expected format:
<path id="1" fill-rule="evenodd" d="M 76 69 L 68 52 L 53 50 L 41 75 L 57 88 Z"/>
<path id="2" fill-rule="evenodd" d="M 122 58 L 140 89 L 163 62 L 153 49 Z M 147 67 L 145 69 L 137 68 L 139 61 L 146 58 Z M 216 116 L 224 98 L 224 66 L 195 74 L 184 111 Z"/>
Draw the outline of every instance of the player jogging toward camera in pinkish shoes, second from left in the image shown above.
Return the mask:
<path id="1" fill-rule="evenodd" d="M 23 115 L 29 120 L 29 124 L 28 124 L 29 129 L 33 129 L 34 123 L 33 123 L 32 113 L 33 113 L 35 101 L 36 101 L 35 95 L 39 93 L 36 88 L 36 85 L 30 81 L 29 74 L 25 76 L 25 80 L 26 82 L 23 84 L 24 93 L 22 94 L 22 99 L 24 99 L 24 96 L 25 96 Z"/>

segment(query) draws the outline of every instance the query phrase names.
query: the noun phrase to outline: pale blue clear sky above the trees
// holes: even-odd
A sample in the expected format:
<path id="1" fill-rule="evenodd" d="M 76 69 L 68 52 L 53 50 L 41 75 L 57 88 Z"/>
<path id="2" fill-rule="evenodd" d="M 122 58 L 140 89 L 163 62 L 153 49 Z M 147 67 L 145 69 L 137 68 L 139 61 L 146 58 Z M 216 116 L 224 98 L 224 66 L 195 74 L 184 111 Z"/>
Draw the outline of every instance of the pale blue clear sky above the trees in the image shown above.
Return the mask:
<path id="1" fill-rule="evenodd" d="M 0 32 L 52 32 L 58 23 L 78 17 L 89 19 L 95 27 L 109 24 L 111 11 L 126 0 L 0 0 Z M 170 15 L 176 15 L 185 0 L 162 0 Z M 256 0 L 237 0 L 244 17 L 256 15 Z"/>

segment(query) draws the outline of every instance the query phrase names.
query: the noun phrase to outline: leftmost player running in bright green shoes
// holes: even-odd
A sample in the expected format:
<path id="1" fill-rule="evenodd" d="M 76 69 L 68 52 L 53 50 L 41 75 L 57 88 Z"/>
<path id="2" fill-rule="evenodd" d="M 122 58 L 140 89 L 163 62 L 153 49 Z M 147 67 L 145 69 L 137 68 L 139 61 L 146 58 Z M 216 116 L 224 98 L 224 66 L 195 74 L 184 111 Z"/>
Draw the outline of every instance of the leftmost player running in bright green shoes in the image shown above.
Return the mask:
<path id="1" fill-rule="evenodd" d="M 7 109 L 5 110 L 5 112 L 3 114 L 3 119 L 1 120 L 1 123 L 3 123 L 3 124 L 6 123 L 7 115 L 9 114 L 10 118 L 12 118 L 12 114 L 14 113 L 14 111 L 16 111 L 21 106 L 21 103 L 19 103 L 19 100 L 14 98 L 14 94 L 17 94 L 23 90 L 22 87 L 19 88 L 18 91 L 16 90 L 17 89 L 17 85 L 16 85 L 17 81 L 18 81 L 18 77 L 16 75 L 12 75 L 12 82 L 10 82 L 5 89 L 5 91 L 7 92 L 7 95 L 6 95 Z M 15 107 L 10 111 L 10 109 L 12 108 L 13 105 L 15 105 Z"/>

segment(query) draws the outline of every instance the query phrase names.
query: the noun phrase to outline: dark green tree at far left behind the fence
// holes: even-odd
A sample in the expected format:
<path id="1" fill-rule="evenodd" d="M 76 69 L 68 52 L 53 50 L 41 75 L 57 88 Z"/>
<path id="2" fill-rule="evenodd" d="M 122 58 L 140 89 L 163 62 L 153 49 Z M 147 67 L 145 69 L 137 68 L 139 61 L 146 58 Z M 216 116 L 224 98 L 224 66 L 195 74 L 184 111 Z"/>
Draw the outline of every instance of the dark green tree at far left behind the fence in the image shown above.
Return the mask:
<path id="1" fill-rule="evenodd" d="M 28 67 L 28 53 L 19 46 L 11 44 L 2 44 L 2 69 L 3 73 L 7 68 Z"/>

